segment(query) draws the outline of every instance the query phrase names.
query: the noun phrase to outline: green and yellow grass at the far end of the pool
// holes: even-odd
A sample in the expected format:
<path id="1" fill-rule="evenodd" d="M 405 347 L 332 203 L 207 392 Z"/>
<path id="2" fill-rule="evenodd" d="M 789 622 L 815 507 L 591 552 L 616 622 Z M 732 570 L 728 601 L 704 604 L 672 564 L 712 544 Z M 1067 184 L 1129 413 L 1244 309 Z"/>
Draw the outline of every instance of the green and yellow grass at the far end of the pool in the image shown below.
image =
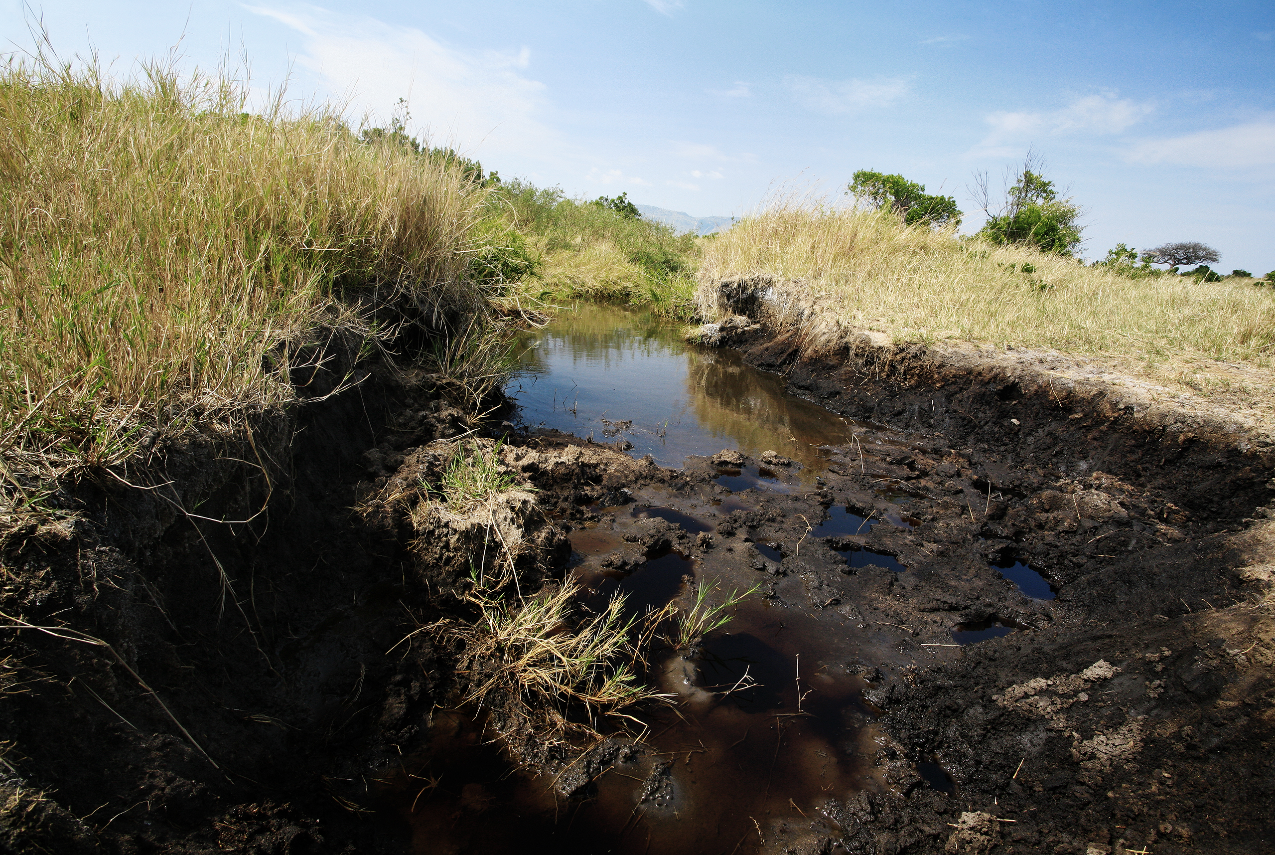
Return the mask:
<path id="1" fill-rule="evenodd" d="M 527 237 L 538 259 L 534 276 L 516 282 L 506 300 L 644 304 L 671 318 L 694 313 L 696 236 L 516 179 L 493 191 L 488 205 Z"/>

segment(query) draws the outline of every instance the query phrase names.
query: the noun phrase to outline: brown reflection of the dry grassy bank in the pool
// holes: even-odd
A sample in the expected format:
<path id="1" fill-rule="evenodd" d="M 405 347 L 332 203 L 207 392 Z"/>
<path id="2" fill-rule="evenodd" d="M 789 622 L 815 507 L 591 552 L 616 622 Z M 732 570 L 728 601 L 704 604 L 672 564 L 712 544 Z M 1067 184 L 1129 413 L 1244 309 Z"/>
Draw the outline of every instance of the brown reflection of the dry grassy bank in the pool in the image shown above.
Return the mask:
<path id="1" fill-rule="evenodd" d="M 847 429 L 836 415 L 805 412 L 778 382 L 755 369 L 718 352 L 691 350 L 687 357 L 686 392 L 696 420 L 741 449 L 754 454 L 773 449 L 810 463 L 817 459 L 813 444 L 845 442 Z"/>

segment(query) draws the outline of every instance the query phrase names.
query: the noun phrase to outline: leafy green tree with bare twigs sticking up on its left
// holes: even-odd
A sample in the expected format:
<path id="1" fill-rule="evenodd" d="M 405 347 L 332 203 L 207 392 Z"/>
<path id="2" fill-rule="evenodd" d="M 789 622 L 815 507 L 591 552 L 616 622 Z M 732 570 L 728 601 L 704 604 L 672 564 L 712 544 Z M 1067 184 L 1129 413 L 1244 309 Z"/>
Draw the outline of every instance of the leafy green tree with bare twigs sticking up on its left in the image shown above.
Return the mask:
<path id="1" fill-rule="evenodd" d="M 975 199 L 988 214 L 979 237 L 991 244 L 1021 244 L 1057 255 L 1071 255 L 1080 248 L 1081 208 L 1071 198 L 1058 198 L 1058 190 L 1042 175 L 1042 167 L 1040 160 L 1028 152 L 996 213 L 991 211 L 987 174 L 975 175 Z"/>

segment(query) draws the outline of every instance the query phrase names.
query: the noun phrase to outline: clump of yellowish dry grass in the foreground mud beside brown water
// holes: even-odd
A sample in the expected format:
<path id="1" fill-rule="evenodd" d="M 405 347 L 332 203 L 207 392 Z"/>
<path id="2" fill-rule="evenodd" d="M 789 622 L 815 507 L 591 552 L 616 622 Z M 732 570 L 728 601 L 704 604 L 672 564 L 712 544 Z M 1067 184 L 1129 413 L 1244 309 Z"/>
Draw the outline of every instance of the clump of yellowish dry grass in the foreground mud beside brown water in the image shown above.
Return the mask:
<path id="1" fill-rule="evenodd" d="M 592 718 L 655 697 L 634 669 L 634 621 L 623 618 L 623 597 L 581 618 L 583 593 L 572 579 L 527 598 L 488 597 L 476 586 L 476 621 L 432 625 L 463 644 L 456 670 L 468 675 L 464 701 L 516 698 L 524 710 L 555 710 L 561 724 L 572 706 Z"/>

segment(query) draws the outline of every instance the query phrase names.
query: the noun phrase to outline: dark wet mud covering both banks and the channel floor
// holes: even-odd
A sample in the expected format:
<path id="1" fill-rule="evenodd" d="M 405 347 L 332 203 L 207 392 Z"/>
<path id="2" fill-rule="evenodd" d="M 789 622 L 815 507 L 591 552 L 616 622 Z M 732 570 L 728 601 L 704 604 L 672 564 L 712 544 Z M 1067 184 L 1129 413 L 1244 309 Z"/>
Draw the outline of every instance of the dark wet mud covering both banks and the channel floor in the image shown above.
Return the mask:
<path id="1" fill-rule="evenodd" d="M 697 378 L 769 378 L 844 435 L 720 442 L 668 470 L 635 459 L 643 413 L 599 412 L 598 434 L 630 425 L 595 436 L 615 444 L 506 434 L 536 491 L 445 517 L 422 484 L 474 426 L 440 378 L 386 371 L 263 419 L 261 465 L 221 436 L 161 440 L 130 472 L 153 489 L 79 485 L 73 539 L 5 556 L 0 844 L 1270 847 L 1269 443 L 923 352 L 802 361 L 752 323 L 729 343 L 773 374 L 705 356 Z M 493 531 L 524 592 L 571 574 L 634 611 L 755 592 L 692 650 L 652 651 L 674 703 L 578 722 L 597 738 L 534 731 L 510 704 L 458 707 L 455 648 L 404 643 L 467 616 Z"/>

